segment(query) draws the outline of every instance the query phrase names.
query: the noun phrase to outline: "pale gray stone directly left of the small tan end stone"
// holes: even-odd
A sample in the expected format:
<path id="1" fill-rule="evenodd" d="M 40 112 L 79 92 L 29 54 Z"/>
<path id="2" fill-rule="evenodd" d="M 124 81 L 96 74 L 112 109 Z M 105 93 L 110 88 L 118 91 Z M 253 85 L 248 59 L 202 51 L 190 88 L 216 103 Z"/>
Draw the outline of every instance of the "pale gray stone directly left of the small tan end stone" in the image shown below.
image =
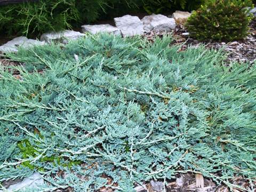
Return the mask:
<path id="1" fill-rule="evenodd" d="M 168 18 L 162 14 L 148 15 L 145 16 L 141 21 L 143 22 L 143 29 L 147 33 L 150 31 L 171 31 L 176 27 L 174 19 Z"/>

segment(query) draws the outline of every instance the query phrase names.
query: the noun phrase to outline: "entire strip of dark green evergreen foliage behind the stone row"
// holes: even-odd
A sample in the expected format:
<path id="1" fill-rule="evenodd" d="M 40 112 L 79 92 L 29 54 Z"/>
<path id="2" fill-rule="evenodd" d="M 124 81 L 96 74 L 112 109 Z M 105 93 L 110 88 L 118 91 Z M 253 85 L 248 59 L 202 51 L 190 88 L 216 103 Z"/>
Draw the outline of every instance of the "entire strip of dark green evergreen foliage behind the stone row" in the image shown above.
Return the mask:
<path id="1" fill-rule="evenodd" d="M 37 36 L 47 31 L 81 27 L 97 19 L 111 19 L 127 13 L 171 12 L 196 9 L 203 0 L 38 0 L 0 6 L 0 33 Z"/>

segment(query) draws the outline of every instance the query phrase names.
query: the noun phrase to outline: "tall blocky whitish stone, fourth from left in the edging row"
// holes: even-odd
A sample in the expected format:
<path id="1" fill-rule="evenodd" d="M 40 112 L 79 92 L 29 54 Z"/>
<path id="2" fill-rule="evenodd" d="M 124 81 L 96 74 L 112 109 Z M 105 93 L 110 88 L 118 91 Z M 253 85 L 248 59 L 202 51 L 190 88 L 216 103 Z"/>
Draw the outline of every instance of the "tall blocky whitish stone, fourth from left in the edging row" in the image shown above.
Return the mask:
<path id="1" fill-rule="evenodd" d="M 114 21 L 124 37 L 143 34 L 143 23 L 137 16 L 124 15 L 114 18 Z"/>

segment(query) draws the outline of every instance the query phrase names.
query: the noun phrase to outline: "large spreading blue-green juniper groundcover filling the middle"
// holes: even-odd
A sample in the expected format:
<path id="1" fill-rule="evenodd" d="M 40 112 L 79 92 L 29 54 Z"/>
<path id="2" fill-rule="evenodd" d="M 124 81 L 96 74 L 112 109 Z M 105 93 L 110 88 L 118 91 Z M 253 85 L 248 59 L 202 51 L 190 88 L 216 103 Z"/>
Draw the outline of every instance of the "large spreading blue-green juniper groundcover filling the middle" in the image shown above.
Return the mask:
<path id="1" fill-rule="evenodd" d="M 42 191 L 94 191 L 107 175 L 133 191 L 180 172 L 255 178 L 256 67 L 170 42 L 102 34 L 9 55 L 24 66 L 0 70 L 0 181 L 39 171 Z"/>

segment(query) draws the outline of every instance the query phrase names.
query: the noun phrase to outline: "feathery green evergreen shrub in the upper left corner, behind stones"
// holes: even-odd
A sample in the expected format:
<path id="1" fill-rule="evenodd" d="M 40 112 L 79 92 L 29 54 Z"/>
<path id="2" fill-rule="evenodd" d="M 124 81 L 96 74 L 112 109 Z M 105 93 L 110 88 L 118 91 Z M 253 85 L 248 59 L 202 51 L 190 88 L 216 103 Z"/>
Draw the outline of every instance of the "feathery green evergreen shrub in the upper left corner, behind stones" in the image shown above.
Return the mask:
<path id="1" fill-rule="evenodd" d="M 0 6 L 0 31 L 9 35 L 40 35 L 80 27 L 97 20 L 115 5 L 135 9 L 134 0 L 39 0 Z M 113 11 L 113 9 L 111 9 Z"/>

